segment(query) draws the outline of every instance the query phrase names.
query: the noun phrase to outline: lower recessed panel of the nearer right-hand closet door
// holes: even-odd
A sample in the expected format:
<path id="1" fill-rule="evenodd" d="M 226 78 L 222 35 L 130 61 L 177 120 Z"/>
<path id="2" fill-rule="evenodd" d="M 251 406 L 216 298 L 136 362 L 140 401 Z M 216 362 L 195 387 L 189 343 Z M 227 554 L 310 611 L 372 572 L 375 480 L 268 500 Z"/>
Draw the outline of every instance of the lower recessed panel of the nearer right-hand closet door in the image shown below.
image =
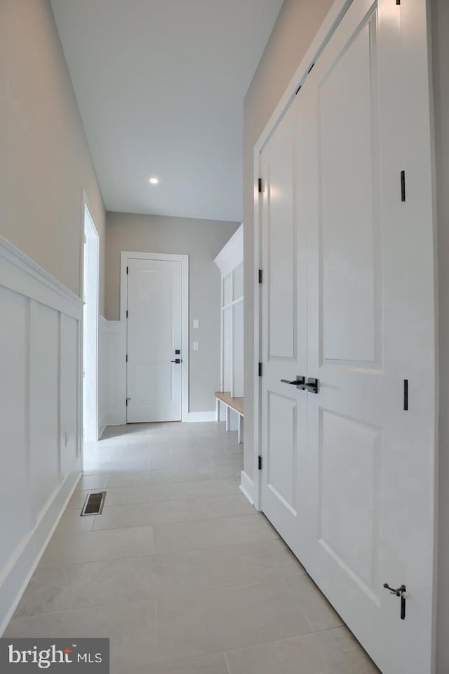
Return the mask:
<path id="1" fill-rule="evenodd" d="M 320 410 L 318 539 L 356 583 L 379 594 L 382 432 Z"/>

